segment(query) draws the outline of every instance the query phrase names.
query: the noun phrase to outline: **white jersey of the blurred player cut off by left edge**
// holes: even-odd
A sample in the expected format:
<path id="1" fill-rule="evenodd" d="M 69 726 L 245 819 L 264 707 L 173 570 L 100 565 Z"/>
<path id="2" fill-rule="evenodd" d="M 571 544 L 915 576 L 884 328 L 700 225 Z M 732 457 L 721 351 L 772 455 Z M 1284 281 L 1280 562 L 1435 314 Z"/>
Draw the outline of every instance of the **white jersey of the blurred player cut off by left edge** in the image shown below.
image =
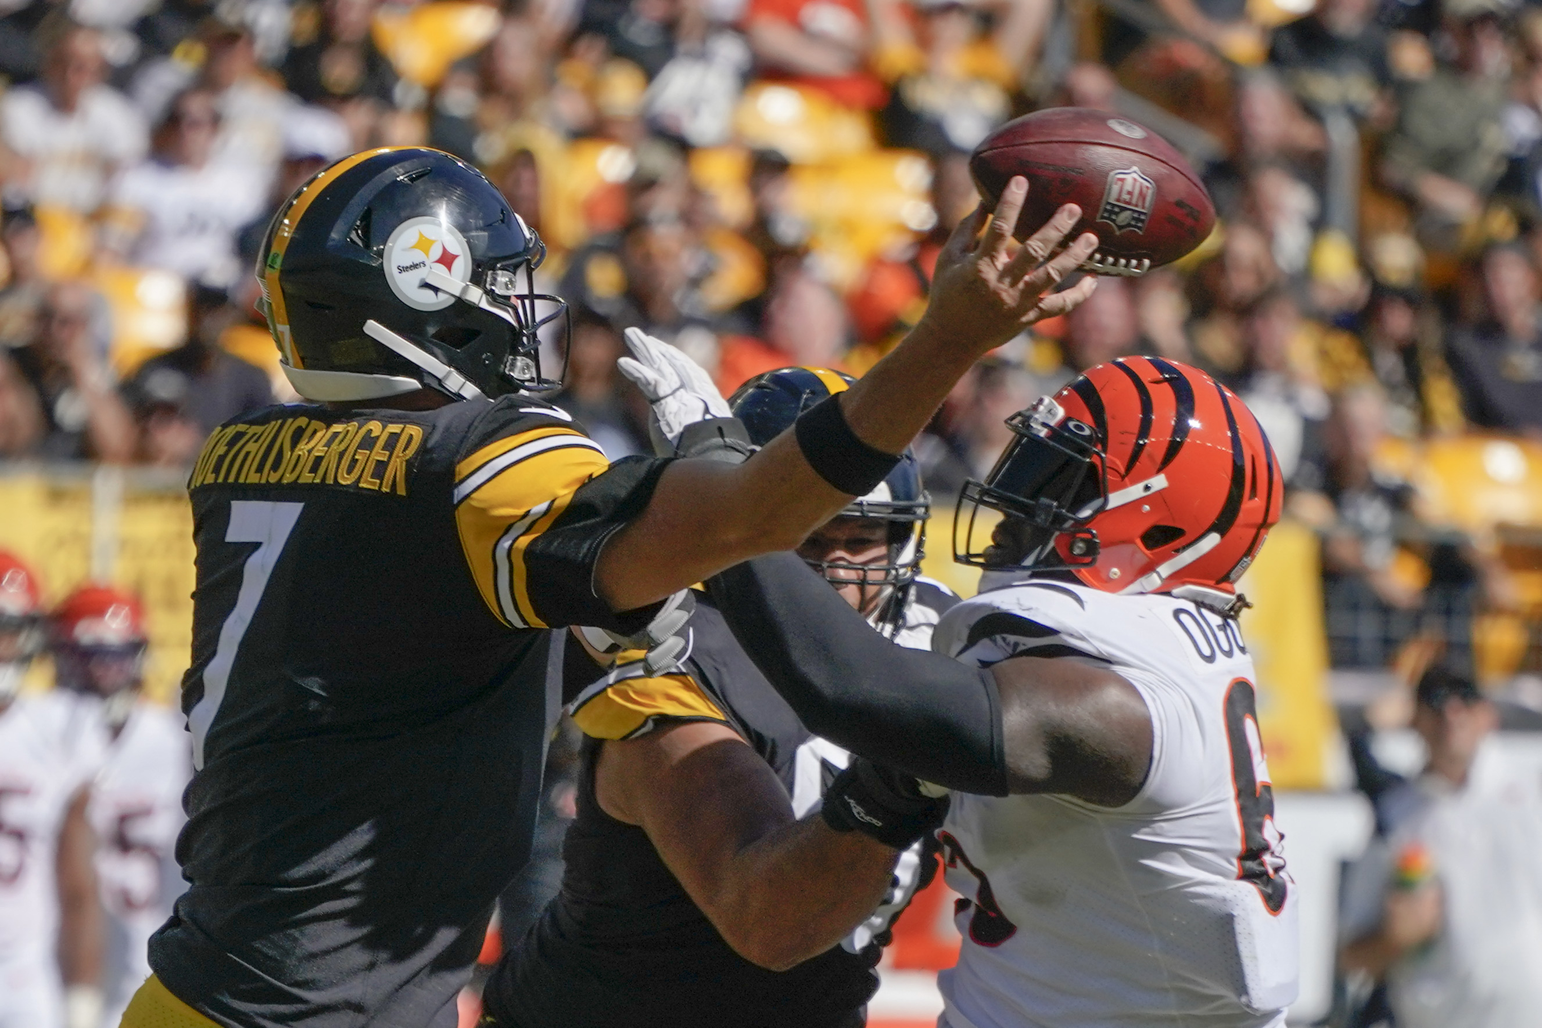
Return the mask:
<path id="1" fill-rule="evenodd" d="M 22 695 L 0 711 L 0 1028 L 59 1017 L 59 832 L 102 757 L 79 697 Z"/>

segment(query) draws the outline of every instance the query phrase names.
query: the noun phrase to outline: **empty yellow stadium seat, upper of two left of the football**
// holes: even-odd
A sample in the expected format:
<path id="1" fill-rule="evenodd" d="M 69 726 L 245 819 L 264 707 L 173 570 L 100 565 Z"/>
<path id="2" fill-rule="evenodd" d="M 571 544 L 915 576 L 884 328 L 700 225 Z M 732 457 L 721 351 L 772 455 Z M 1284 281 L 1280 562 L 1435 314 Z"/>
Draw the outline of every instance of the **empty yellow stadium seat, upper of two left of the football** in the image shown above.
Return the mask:
<path id="1" fill-rule="evenodd" d="M 874 148 L 873 123 L 806 86 L 756 82 L 734 111 L 739 140 L 777 149 L 793 163 L 822 163 Z"/>

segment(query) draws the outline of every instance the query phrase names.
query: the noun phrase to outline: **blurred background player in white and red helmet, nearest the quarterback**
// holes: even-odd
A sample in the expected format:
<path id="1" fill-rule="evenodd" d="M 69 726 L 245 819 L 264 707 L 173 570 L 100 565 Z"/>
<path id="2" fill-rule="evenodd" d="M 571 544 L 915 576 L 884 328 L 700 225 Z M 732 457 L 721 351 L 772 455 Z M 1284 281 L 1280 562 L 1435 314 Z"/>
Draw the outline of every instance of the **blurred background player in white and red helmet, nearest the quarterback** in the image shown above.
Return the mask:
<path id="1" fill-rule="evenodd" d="M 116 1028 L 150 977 L 150 936 L 185 888 L 176 842 L 193 758 L 180 715 L 140 695 L 148 640 L 134 596 L 83 586 L 56 607 L 49 635 L 57 689 L 93 709 L 106 737 L 86 814 L 105 912 L 100 1023 Z"/>

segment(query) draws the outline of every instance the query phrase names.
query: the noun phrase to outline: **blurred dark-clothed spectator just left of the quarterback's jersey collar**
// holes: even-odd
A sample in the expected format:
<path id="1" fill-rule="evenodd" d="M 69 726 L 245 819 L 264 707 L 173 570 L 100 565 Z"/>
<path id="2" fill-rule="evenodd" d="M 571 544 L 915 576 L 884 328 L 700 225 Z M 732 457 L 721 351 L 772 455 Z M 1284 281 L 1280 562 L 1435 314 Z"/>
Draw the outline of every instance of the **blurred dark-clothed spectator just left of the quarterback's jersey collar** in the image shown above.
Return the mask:
<path id="1" fill-rule="evenodd" d="M 273 402 L 268 376 L 219 345 L 241 311 L 221 290 L 191 293 L 187 342 L 145 361 L 123 385 L 146 464 L 190 465 L 219 424 Z"/>

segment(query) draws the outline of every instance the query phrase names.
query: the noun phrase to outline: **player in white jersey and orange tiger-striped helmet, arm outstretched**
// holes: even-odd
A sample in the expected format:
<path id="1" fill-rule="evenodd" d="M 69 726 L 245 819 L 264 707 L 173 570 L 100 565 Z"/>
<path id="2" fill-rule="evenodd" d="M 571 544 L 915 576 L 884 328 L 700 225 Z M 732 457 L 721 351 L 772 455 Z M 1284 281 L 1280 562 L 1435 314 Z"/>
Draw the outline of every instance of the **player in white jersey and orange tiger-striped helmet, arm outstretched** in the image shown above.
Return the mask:
<path id="1" fill-rule="evenodd" d="M 871 644 L 785 555 L 712 596 L 813 731 L 959 789 L 942 1028 L 1283 1025 L 1295 889 L 1235 620 L 1280 516 L 1274 452 L 1232 393 L 1160 358 L 1092 368 L 1008 424 L 959 504 L 981 593 L 936 655 Z M 1002 516 L 988 546 L 982 510 Z M 848 825 L 904 825 L 924 792 L 868 794 Z"/>

